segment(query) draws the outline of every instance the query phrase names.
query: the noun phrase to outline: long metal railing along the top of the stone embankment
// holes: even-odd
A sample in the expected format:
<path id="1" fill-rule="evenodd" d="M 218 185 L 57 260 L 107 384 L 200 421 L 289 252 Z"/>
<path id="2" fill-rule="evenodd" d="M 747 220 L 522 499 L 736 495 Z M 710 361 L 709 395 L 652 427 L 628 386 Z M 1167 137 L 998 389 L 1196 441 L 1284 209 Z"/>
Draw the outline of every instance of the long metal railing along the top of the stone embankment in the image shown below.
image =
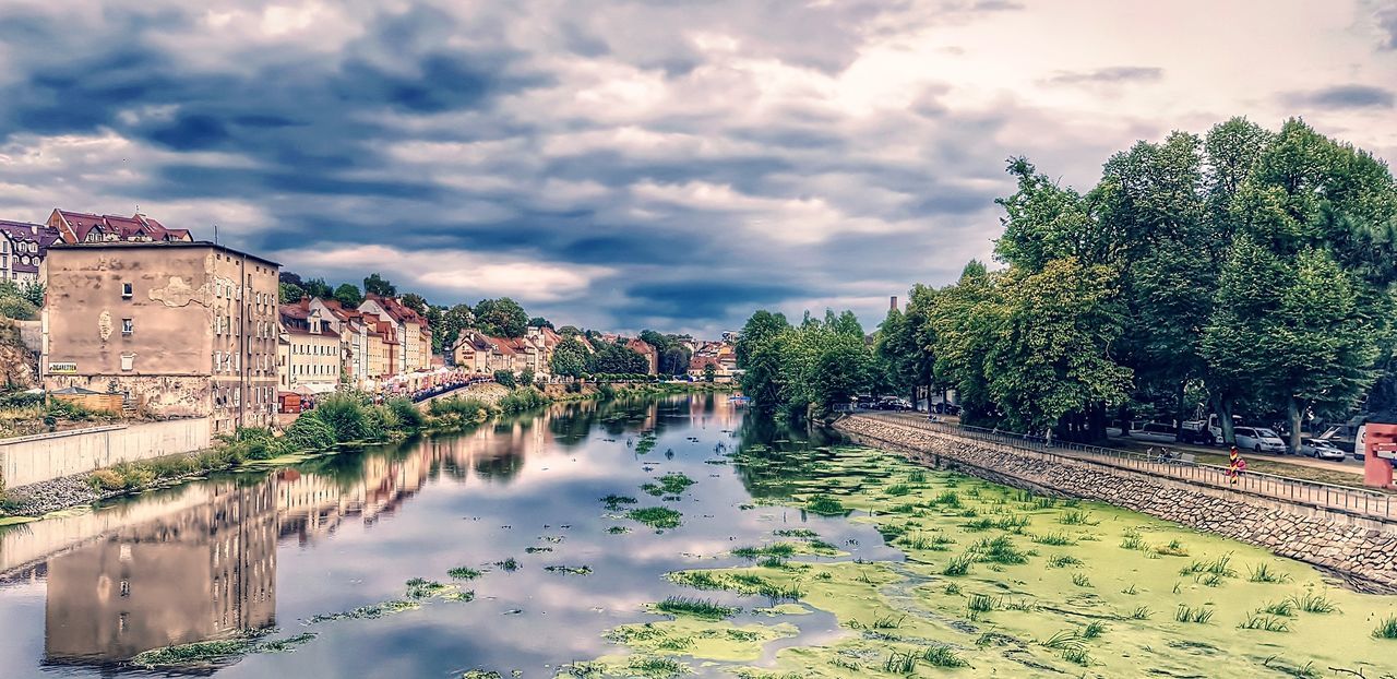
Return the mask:
<path id="1" fill-rule="evenodd" d="M 1344 510 L 1363 517 L 1397 520 L 1397 497 L 1389 493 L 1365 490 L 1361 488 L 1336 486 L 1313 481 L 1292 479 L 1274 474 L 1246 471 L 1241 472 L 1236 482 L 1228 474 L 1227 467 L 1179 460 L 1173 455 L 1157 453 L 1136 453 L 1130 450 L 1104 448 L 1099 446 L 1085 446 L 1070 441 L 1049 441 L 1041 436 L 1017 435 L 982 429 L 965 425 L 951 425 L 944 422 L 928 422 L 922 419 L 888 416 L 884 414 L 866 414 L 880 421 L 912 429 L 925 429 L 942 435 L 975 439 L 997 443 L 1020 450 L 1027 450 L 1049 460 L 1073 460 L 1105 464 L 1136 469 L 1158 476 L 1168 476 L 1193 483 L 1214 488 L 1241 490 L 1263 497 L 1274 497 L 1315 507 Z M 1062 454 L 1066 451 L 1070 454 Z"/>

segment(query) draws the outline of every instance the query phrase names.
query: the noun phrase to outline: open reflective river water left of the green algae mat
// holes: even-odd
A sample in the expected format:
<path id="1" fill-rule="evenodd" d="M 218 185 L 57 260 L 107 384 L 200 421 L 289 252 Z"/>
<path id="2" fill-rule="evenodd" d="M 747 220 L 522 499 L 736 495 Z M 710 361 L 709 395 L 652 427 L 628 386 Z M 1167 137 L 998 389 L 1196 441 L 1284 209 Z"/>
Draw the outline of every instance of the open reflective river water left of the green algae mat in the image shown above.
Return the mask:
<path id="1" fill-rule="evenodd" d="M 854 553 L 897 559 L 873 527 L 752 510 L 740 469 L 717 464 L 757 441 L 827 443 L 803 437 L 745 418 L 724 394 L 562 404 L 469 433 L 218 475 L 0 528 L 0 676 L 140 673 L 126 664 L 141 651 L 272 629 L 317 636 L 293 652 L 205 671 L 552 676 L 560 664 L 615 652 L 606 630 L 659 619 L 645 605 L 685 594 L 665 573 L 739 564 L 728 550 L 784 525 L 813 524 Z M 666 472 L 697 483 L 669 502 L 640 490 Z M 672 507 L 682 525 L 622 520 L 599 503 L 608 495 Z M 509 559 L 518 567 L 499 566 Z M 461 566 L 482 574 L 453 581 L 447 571 Z M 418 577 L 454 583 L 474 601 L 310 623 L 402 599 Z M 838 634 L 830 615 L 799 626 L 770 652 Z"/>

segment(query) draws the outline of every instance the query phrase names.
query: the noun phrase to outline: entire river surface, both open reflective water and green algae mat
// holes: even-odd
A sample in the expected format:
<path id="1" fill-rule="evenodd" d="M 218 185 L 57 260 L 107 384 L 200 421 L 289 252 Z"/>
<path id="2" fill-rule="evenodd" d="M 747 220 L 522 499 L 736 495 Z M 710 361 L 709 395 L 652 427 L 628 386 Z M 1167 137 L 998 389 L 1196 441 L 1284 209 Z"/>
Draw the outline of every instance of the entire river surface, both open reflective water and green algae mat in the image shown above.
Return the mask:
<path id="1" fill-rule="evenodd" d="M 650 507 L 680 524 L 627 517 Z M 4 678 L 1397 675 L 1393 597 L 724 395 L 556 405 L 0 531 Z"/>

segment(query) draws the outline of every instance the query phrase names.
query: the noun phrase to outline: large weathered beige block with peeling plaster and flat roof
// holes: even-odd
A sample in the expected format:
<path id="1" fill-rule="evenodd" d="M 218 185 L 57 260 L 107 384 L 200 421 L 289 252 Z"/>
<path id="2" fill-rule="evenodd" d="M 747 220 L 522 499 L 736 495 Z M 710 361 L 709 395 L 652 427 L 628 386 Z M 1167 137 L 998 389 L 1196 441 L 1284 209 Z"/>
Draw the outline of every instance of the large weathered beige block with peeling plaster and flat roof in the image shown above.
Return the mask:
<path id="1" fill-rule="evenodd" d="M 45 388 L 122 394 L 215 433 L 277 411 L 278 264 L 204 242 L 54 244 L 43 261 Z"/>

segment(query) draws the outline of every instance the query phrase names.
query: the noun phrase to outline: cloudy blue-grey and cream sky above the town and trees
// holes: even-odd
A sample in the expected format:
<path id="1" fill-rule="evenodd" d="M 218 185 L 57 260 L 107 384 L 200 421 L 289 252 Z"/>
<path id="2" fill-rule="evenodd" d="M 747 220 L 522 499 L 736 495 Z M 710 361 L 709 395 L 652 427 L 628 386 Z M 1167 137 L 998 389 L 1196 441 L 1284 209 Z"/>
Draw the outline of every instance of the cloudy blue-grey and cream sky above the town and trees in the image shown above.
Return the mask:
<path id="1" fill-rule="evenodd" d="M 1007 158 L 1232 116 L 1397 158 L 1397 0 L 0 4 L 0 218 L 599 330 L 872 330 L 990 257 Z"/>

